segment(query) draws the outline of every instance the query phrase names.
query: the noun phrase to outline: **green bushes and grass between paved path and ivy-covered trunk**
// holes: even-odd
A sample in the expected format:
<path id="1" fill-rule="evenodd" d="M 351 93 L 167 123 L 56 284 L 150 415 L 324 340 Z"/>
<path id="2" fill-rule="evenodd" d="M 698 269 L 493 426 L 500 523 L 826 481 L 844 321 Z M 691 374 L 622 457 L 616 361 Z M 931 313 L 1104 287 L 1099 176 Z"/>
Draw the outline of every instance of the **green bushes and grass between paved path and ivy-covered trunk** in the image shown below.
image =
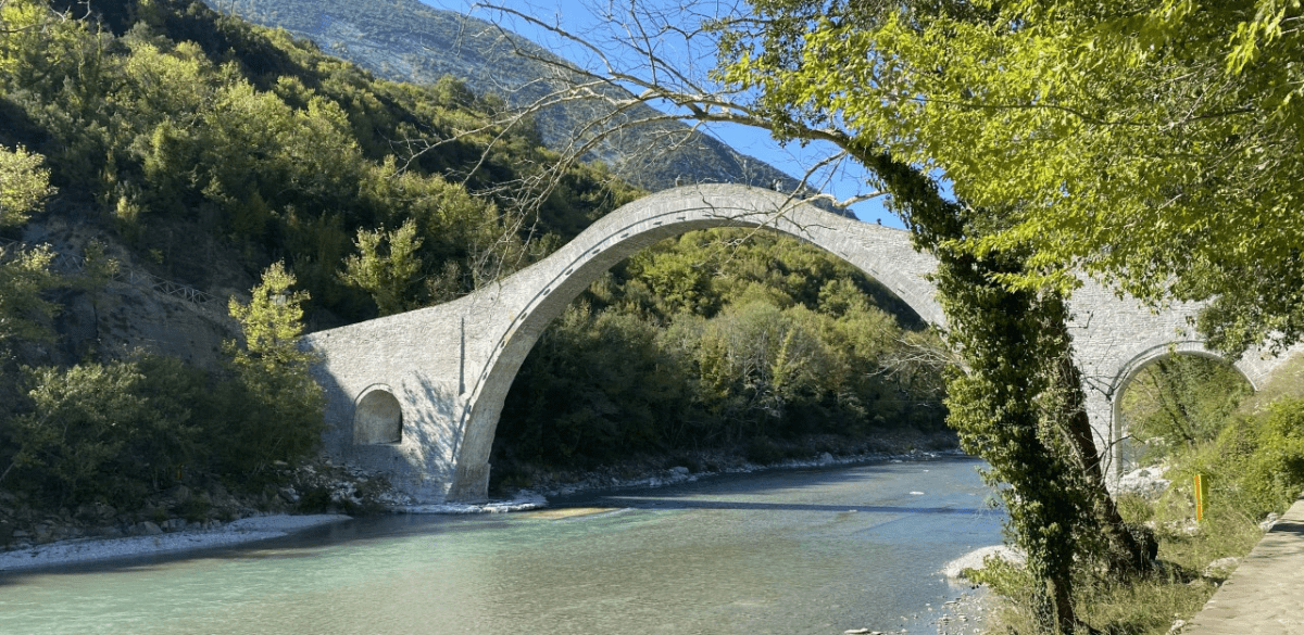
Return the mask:
<path id="1" fill-rule="evenodd" d="M 1208 370 L 1193 363 L 1189 368 Z M 1189 370 L 1188 368 L 1188 370 Z M 1180 377 L 1183 373 L 1178 373 Z M 1187 375 L 1191 381 L 1192 376 Z M 1226 396 L 1228 385 L 1218 373 L 1205 375 L 1205 386 Z M 1288 377 L 1299 388 L 1297 377 Z M 1185 396 L 1184 383 L 1167 384 L 1167 402 Z M 1221 558 L 1244 557 L 1262 537 L 1258 522 L 1269 511 L 1282 511 L 1304 488 L 1304 454 L 1300 424 L 1304 405 L 1294 398 L 1278 398 L 1270 406 L 1241 409 L 1214 427 L 1214 437 L 1193 444 L 1168 446 L 1162 457 L 1168 465 L 1166 479 L 1172 485 L 1155 501 L 1124 494 L 1119 506 L 1128 522 L 1145 522 L 1159 539 L 1158 557 L 1166 566 L 1144 578 L 1108 578 L 1080 571 L 1076 610 L 1081 622 L 1098 632 L 1163 634 L 1175 619 L 1189 619 L 1230 574 L 1227 567 L 1210 567 Z M 1194 520 L 1193 475 L 1210 483 L 1204 520 Z M 990 628 L 1012 632 L 1034 631 L 1026 610 L 1030 580 L 1012 578 L 983 582 L 1007 583 L 994 588 L 1009 599 L 1005 608 L 988 617 Z"/>

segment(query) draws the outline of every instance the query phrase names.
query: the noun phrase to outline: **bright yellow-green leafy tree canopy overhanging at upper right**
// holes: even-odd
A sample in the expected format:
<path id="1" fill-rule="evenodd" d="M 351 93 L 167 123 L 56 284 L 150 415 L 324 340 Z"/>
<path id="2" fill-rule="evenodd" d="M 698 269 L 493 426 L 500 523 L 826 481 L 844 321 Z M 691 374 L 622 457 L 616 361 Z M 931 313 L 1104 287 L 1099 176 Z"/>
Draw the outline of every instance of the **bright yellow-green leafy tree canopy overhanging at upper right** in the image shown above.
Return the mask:
<path id="1" fill-rule="evenodd" d="M 1300 3 L 762 0 L 720 21 L 719 78 L 780 137 L 827 131 L 985 209 L 1016 286 L 1085 269 L 1213 299 L 1230 353 L 1304 332 Z"/>

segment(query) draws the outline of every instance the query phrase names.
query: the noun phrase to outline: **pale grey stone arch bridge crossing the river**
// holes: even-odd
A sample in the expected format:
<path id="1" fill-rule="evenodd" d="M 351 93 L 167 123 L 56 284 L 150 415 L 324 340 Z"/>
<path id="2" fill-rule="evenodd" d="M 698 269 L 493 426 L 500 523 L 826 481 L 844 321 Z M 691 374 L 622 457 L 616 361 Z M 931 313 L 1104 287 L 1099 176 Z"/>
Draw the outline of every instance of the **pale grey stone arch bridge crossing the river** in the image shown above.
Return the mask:
<path id="1" fill-rule="evenodd" d="M 322 355 L 326 452 L 381 472 L 426 502 L 484 498 L 503 399 L 540 333 L 600 275 L 639 250 L 695 229 L 762 226 L 823 247 L 944 325 L 936 267 L 909 233 L 845 219 L 784 194 L 738 185 L 666 190 L 606 215 L 556 254 L 445 304 L 306 336 Z M 1123 385 L 1170 350 L 1211 355 L 1188 329 L 1194 306 L 1153 314 L 1088 284 L 1072 301 L 1088 410 L 1107 452 L 1120 432 Z M 1236 367 L 1258 388 L 1279 363 L 1256 353 Z"/>

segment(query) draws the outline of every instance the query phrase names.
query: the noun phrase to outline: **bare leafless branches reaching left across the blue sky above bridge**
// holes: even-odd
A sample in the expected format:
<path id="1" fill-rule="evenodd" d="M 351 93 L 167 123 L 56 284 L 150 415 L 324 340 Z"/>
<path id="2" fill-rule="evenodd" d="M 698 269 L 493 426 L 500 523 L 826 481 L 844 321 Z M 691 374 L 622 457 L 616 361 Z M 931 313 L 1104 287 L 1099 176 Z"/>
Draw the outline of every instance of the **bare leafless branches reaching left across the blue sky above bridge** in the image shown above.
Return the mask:
<path id="1" fill-rule="evenodd" d="M 705 4 L 715 12 L 700 12 Z M 498 113 L 493 121 L 475 130 L 459 131 L 452 138 L 411 142 L 411 156 L 417 159 L 424 152 L 455 142 L 467 135 L 492 133 L 490 147 L 501 143 L 506 135 L 519 126 L 539 121 L 562 108 L 583 111 L 583 121 L 567 126 L 565 138 L 549 146 L 557 157 L 548 165 L 539 165 L 527 180 L 506 183 L 494 190 L 494 195 L 514 200 L 514 213 L 531 215 L 537 212 L 541 200 L 559 185 L 561 178 L 576 163 L 595 157 L 613 156 L 613 147 L 627 143 L 630 134 L 639 135 L 636 165 L 613 165 L 617 173 L 639 172 L 636 167 L 648 165 L 651 160 L 675 156 L 677 151 L 690 148 L 702 139 L 702 133 L 713 124 L 739 125 L 773 131 L 775 122 L 754 111 L 746 95 L 717 85 L 708 69 L 700 68 L 700 61 L 682 62 L 674 59 L 674 51 L 707 51 L 709 68 L 715 68 L 715 53 L 719 49 L 717 31 L 704 29 L 708 21 L 719 21 L 720 10 L 725 14 L 739 12 L 728 3 L 687 1 L 669 13 L 649 12 L 638 0 L 609 3 L 604 10 L 595 10 L 608 25 L 606 39 L 595 33 L 580 34 L 561 26 L 559 21 L 549 21 L 528 9 L 505 4 L 482 3 L 476 9 L 490 12 L 493 33 L 477 36 L 492 36 L 510 49 L 511 55 L 535 68 L 545 69 L 545 77 L 522 86 L 503 86 L 507 95 L 533 95 L 523 103 L 512 104 Z M 733 13 L 737 14 L 737 13 Z M 685 16 L 689 16 L 685 18 Z M 556 36 L 566 46 L 584 52 L 591 59 L 592 68 L 583 68 L 554 55 L 531 47 L 510 33 L 505 23 L 519 22 Z M 700 56 L 698 56 L 700 57 Z M 660 108 L 659 108 L 660 107 Z M 636 133 L 635 133 L 636 131 Z M 781 189 L 795 199 L 822 202 L 828 207 L 845 207 L 862 200 L 882 196 L 884 193 L 870 190 L 838 200 L 833 195 L 818 190 L 828 186 L 833 170 L 844 168 L 852 139 L 836 128 L 802 129 L 802 146 L 810 141 L 823 141 L 833 144 L 835 151 L 815 160 L 805 173 Z M 742 159 L 742 157 L 739 157 Z M 741 160 L 743 174 L 729 174 L 722 169 L 716 177 L 696 178 L 703 181 L 737 181 L 752 185 L 773 186 L 773 182 L 755 183 L 747 173 L 750 163 Z M 475 170 L 481 169 L 484 159 L 463 174 L 468 180 Z M 715 167 L 720 169 L 720 167 Z M 786 178 L 785 178 L 786 180 Z M 677 177 L 678 181 L 678 177 Z M 776 187 L 777 189 L 777 187 Z"/>

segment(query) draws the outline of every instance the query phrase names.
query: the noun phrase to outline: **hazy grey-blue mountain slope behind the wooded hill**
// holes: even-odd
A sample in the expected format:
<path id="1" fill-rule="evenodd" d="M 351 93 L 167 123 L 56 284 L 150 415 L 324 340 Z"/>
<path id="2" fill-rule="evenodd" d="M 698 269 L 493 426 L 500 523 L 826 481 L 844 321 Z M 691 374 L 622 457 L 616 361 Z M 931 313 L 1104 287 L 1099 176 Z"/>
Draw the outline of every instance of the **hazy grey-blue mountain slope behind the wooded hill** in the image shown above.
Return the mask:
<path id="1" fill-rule="evenodd" d="M 433 9 L 417 0 L 205 0 L 210 7 L 257 23 L 308 38 L 325 52 L 353 61 L 381 77 L 434 83 L 443 75 L 463 79 L 477 94 L 501 95 L 509 104 L 527 104 L 553 90 L 542 78 L 549 69 L 524 59 L 549 56 L 539 46 L 505 34 L 496 25 L 454 12 Z M 557 147 L 593 117 L 597 104 L 554 107 L 536 118 L 546 144 Z M 642 118 L 653 111 L 642 107 Z M 683 139 L 672 143 L 670 139 Z M 591 152 L 622 178 L 661 190 L 675 182 L 746 182 L 794 190 L 797 180 L 769 164 L 738 154 L 724 143 L 664 124 L 613 135 Z"/>

